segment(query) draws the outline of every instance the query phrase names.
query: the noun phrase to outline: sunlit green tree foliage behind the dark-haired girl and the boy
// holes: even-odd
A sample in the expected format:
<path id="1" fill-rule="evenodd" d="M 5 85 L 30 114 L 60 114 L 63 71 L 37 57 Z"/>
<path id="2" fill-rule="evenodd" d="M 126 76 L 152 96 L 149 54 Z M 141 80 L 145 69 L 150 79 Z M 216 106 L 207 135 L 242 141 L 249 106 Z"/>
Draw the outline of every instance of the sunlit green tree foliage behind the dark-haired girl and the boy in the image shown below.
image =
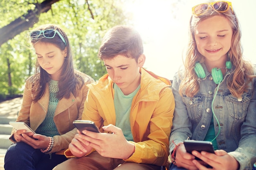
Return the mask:
<path id="1" fill-rule="evenodd" d="M 44 1 L 47 0 L 1 0 L 0 27 L 27 15 Z M 32 28 L 48 23 L 61 26 L 72 44 L 75 67 L 95 80 L 99 79 L 106 73 L 103 62 L 97 57 L 103 35 L 112 26 L 130 22 L 128 14 L 122 11 L 123 0 L 55 1 L 49 11 L 40 13 Z M 25 79 L 33 74 L 36 55 L 27 37 L 32 28 L 0 47 L 0 95 L 21 93 Z"/>

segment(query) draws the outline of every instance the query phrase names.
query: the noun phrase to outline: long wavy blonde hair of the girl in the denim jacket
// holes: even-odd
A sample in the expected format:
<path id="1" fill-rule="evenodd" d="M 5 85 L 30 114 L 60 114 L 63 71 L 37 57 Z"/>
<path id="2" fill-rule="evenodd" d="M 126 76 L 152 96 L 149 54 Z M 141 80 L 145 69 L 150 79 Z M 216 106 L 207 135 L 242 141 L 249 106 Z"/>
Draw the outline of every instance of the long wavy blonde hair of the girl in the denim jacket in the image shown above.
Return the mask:
<path id="1" fill-rule="evenodd" d="M 180 75 L 182 76 L 182 81 L 179 89 L 180 95 L 193 97 L 199 91 L 200 86 L 198 82 L 198 76 L 194 71 L 194 67 L 196 62 L 204 62 L 204 57 L 198 52 L 195 43 L 194 31 L 201 21 L 216 15 L 227 18 L 233 30 L 231 48 L 227 53 L 227 55 L 229 55 L 229 60 L 233 64 L 234 68 L 232 76 L 229 76 L 227 79 L 227 87 L 229 91 L 235 97 L 240 97 L 243 92 L 247 91 L 247 84 L 249 81 L 252 81 L 252 78 L 254 77 L 252 64 L 243 59 L 243 48 L 240 42 L 241 31 L 236 14 L 233 14 L 231 8 L 229 8 L 229 10 L 225 13 L 220 13 L 210 7 L 202 15 L 191 16 L 189 44 L 186 51 L 186 58 L 184 61 L 184 74 Z"/>

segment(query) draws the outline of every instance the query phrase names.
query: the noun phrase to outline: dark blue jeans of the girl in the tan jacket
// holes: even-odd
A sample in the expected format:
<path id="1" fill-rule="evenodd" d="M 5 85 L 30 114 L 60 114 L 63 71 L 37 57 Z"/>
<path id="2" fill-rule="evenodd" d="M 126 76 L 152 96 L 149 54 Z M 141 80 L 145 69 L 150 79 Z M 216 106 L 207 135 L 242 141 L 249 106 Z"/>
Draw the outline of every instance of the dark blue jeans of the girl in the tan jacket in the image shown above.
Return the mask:
<path id="1" fill-rule="evenodd" d="M 65 155 L 42 153 L 24 142 L 11 145 L 4 157 L 5 170 L 52 170 L 67 160 Z"/>

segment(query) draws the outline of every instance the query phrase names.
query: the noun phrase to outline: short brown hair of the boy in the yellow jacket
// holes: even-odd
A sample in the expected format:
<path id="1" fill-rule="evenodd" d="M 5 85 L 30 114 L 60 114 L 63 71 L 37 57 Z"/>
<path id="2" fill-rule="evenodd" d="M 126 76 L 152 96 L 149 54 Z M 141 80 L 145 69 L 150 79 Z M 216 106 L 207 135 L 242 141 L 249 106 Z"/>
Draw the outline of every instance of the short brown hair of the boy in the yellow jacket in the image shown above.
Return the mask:
<path id="1" fill-rule="evenodd" d="M 98 57 L 112 59 L 117 55 L 137 59 L 143 54 L 143 42 L 139 33 L 131 26 L 114 26 L 103 37 Z"/>

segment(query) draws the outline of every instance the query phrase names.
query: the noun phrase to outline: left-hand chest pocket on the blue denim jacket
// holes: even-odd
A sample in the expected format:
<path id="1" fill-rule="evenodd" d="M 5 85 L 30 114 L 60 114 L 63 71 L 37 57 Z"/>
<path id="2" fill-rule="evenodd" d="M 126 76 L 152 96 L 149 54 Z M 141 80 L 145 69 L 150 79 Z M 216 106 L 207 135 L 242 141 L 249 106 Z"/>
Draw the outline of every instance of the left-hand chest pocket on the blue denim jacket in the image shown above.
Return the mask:
<path id="1" fill-rule="evenodd" d="M 193 98 L 183 97 L 182 101 L 186 105 L 190 119 L 198 119 L 202 116 L 203 96 L 194 96 Z"/>

